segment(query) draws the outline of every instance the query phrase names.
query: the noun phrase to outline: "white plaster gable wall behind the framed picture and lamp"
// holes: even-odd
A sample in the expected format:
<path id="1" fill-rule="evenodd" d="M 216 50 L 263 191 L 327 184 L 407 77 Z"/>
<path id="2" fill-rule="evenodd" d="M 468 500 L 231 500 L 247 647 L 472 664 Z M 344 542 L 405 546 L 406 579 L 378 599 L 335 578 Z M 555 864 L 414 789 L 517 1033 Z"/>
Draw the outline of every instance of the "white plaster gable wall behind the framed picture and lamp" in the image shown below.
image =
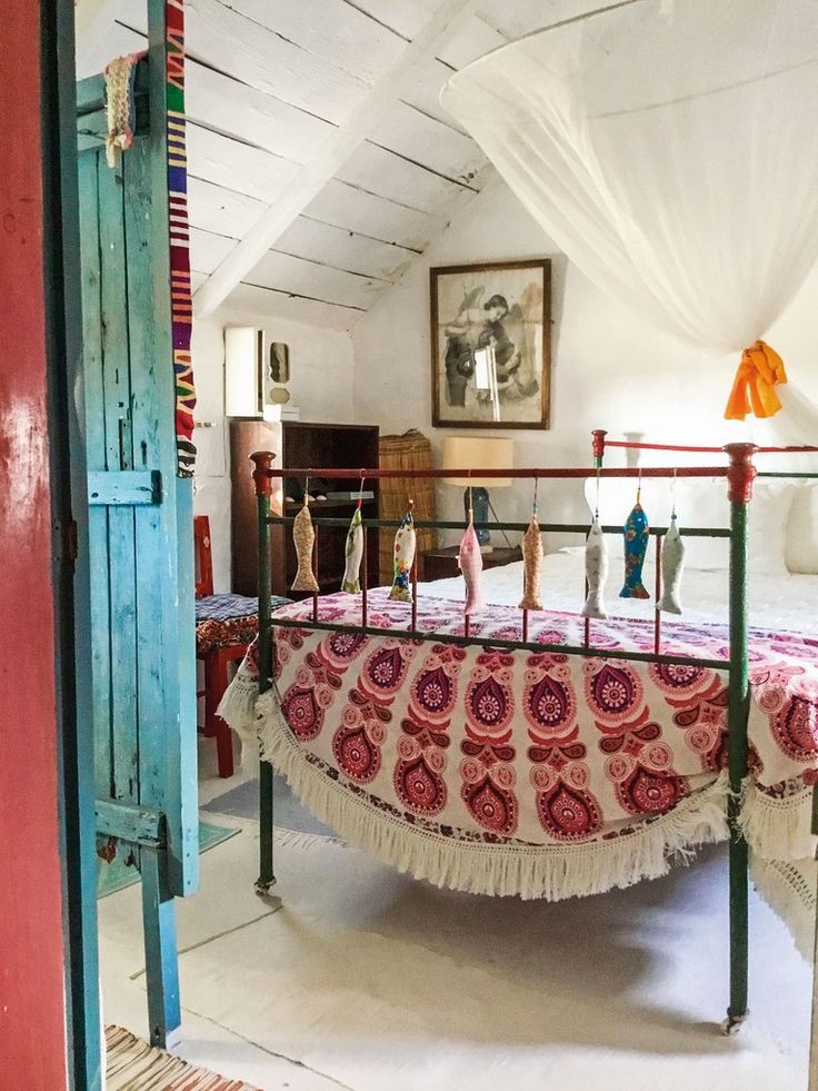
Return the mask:
<path id="1" fill-rule="evenodd" d="M 738 425 L 722 418 L 736 360 L 688 349 L 612 302 L 557 251 L 499 176 L 355 326 L 357 419 L 377 423 L 381 432 L 417 427 L 431 437 L 440 458 L 443 438 L 458 429 L 431 427 L 429 268 L 528 257 L 552 259 L 551 427 L 497 433 L 513 437 L 518 466 L 588 465 L 595 427 L 619 438 L 634 432 L 666 443 L 744 438 Z M 790 378 L 815 399 L 817 302 L 815 274 L 769 337 Z M 530 514 L 527 486 L 496 489 L 492 499 L 501 518 Z M 439 486 L 439 505 L 443 516 L 455 517 L 462 510 L 460 492 Z M 540 489 L 539 510 L 543 520 L 583 517 L 580 486 L 550 483 Z"/>

